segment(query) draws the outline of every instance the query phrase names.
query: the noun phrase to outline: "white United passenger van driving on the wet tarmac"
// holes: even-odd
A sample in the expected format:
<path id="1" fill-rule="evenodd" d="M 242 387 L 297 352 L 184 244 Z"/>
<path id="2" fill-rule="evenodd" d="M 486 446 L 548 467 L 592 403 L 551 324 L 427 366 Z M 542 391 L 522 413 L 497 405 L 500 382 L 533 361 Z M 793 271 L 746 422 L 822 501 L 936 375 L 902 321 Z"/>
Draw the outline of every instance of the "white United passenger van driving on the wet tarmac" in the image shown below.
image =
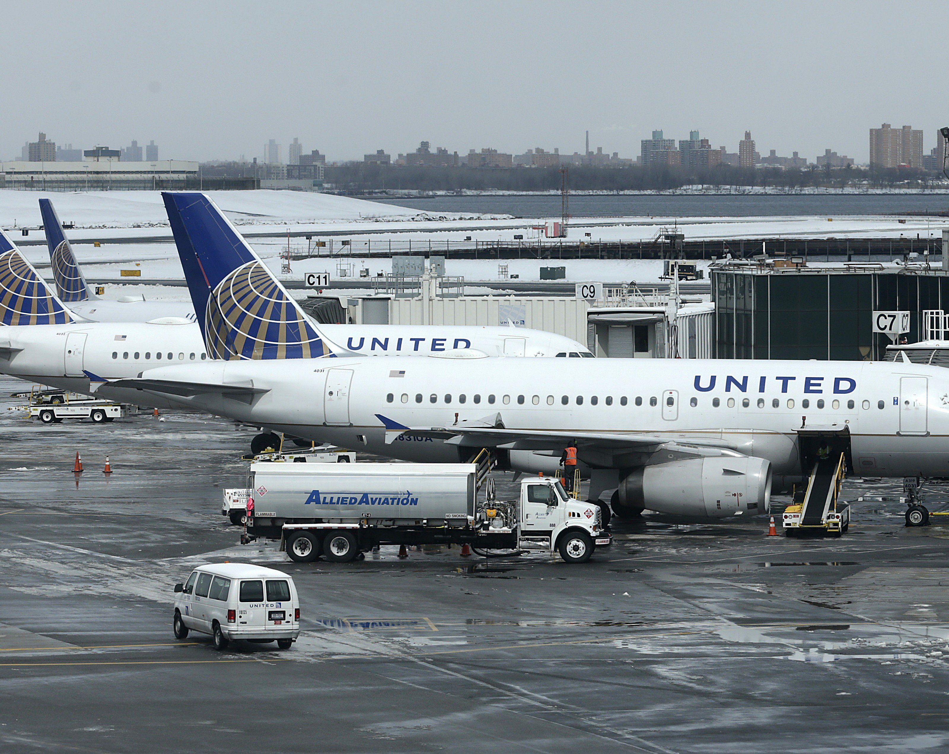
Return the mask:
<path id="1" fill-rule="evenodd" d="M 300 599 L 288 575 L 246 563 L 198 566 L 175 585 L 175 638 L 210 633 L 214 649 L 235 639 L 276 641 L 288 650 L 300 635 Z"/>

